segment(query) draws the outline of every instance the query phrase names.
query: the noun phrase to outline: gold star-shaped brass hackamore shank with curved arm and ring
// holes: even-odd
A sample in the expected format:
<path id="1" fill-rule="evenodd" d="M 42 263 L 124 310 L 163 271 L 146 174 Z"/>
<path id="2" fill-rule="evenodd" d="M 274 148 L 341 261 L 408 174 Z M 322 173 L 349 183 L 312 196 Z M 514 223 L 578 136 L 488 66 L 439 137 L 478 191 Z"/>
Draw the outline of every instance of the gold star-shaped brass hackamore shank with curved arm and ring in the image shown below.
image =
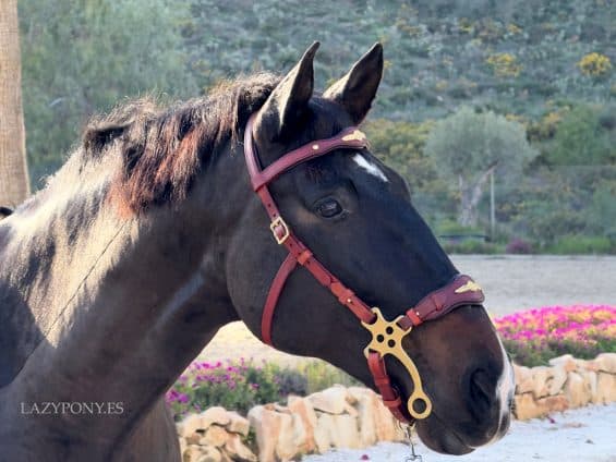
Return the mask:
<path id="1" fill-rule="evenodd" d="M 372 340 L 364 349 L 365 357 L 369 356 L 371 351 L 374 351 L 379 353 L 383 357 L 390 354 L 402 363 L 413 380 L 413 392 L 407 401 L 409 414 L 416 420 L 427 417 L 432 412 L 432 401 L 430 401 L 430 398 L 427 398 L 427 394 L 423 391 L 421 377 L 415 363 L 413 363 L 413 360 L 411 360 L 407 352 L 402 349 L 402 338 L 411 332 L 413 329 L 412 326 L 409 327 L 408 330 L 404 330 L 398 326 L 398 321 L 403 316 L 398 316 L 395 320 L 388 321 L 385 319 L 379 308 L 373 307 L 372 312 L 376 315 L 376 320 L 372 324 L 362 321 L 362 326 L 372 333 Z M 423 401 L 423 411 L 415 410 L 414 404 L 418 401 Z"/>

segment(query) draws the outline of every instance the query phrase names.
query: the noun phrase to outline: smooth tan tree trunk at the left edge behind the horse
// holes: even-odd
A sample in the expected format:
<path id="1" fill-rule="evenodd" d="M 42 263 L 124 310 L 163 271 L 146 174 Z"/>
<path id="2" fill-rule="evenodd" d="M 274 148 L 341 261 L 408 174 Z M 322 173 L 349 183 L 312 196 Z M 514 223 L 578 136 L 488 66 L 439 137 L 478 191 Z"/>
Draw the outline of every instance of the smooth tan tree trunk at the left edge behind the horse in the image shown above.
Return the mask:
<path id="1" fill-rule="evenodd" d="M 17 0 L 0 1 L 0 206 L 29 195 Z"/>

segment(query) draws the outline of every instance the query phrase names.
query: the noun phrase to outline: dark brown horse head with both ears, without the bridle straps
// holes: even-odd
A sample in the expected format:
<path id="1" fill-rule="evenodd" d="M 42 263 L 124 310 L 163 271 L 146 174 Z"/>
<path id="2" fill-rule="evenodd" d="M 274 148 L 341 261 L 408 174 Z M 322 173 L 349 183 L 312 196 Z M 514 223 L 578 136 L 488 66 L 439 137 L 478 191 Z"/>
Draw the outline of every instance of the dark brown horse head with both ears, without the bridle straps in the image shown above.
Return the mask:
<path id="1" fill-rule="evenodd" d="M 306 51 L 254 118 L 254 145 L 264 168 L 299 146 L 359 124 L 371 108 L 383 73 L 381 45 L 323 95 L 313 93 L 316 48 Z M 269 191 L 293 233 L 387 319 L 458 273 L 414 209 L 404 181 L 369 149 L 337 149 L 303 162 L 273 181 Z M 257 336 L 265 297 L 286 254 L 253 196 L 235 224 L 226 271 L 233 304 Z M 374 386 L 363 355 L 369 332 L 305 269 L 287 280 L 271 333 L 277 348 L 322 357 Z M 418 423 L 428 447 L 462 454 L 503 436 L 514 391 L 511 365 L 483 306 L 459 306 L 415 327 L 403 349 L 432 401 L 432 413 Z M 401 397 L 409 397 L 415 384 L 407 369 L 391 356 L 386 365 Z"/>

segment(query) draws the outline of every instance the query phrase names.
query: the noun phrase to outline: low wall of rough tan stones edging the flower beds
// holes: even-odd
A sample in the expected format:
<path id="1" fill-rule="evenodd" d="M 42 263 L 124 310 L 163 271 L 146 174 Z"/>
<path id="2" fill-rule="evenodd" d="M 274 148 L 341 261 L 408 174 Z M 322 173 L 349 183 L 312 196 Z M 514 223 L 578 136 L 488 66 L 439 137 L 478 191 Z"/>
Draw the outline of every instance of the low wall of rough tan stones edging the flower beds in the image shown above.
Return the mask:
<path id="1" fill-rule="evenodd" d="M 540 417 L 589 403 L 616 401 L 616 353 L 592 361 L 571 355 L 549 366 L 514 366 L 519 420 Z M 251 448 L 243 441 L 249 433 Z M 402 441 L 404 435 L 381 398 L 367 388 L 335 386 L 287 405 L 253 408 L 247 418 L 210 408 L 178 424 L 184 462 L 277 462 L 333 448 L 366 448 Z"/>

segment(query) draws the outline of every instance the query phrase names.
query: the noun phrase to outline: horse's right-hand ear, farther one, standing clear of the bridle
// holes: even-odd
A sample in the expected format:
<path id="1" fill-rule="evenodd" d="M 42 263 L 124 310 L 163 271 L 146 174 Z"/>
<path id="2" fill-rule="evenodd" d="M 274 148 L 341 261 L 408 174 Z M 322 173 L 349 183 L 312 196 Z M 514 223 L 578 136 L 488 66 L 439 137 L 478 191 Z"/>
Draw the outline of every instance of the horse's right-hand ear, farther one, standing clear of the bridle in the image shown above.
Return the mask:
<path id="1" fill-rule="evenodd" d="M 364 120 L 383 77 L 383 46 L 374 46 L 353 64 L 347 75 L 323 94 L 339 102 L 351 115 L 353 123 Z"/>

